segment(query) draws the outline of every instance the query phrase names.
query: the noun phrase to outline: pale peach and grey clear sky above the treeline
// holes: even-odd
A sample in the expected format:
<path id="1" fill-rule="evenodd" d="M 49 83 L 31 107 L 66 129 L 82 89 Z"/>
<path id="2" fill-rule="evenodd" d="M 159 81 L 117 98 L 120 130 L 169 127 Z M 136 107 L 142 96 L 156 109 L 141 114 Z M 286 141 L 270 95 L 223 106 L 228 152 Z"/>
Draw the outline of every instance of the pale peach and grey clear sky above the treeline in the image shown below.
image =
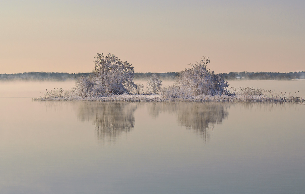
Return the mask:
<path id="1" fill-rule="evenodd" d="M 0 74 L 91 72 L 97 53 L 135 72 L 305 71 L 305 1 L 0 1 Z"/>

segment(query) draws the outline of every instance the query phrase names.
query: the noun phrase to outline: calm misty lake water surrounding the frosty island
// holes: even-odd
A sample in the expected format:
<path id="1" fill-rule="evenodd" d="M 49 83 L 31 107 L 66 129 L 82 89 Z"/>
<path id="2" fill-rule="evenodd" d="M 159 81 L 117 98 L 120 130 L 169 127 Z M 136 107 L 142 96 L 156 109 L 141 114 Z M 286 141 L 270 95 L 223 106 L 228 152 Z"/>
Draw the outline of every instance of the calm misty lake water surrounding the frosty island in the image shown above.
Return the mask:
<path id="1" fill-rule="evenodd" d="M 73 85 L 0 82 L 0 193 L 304 193 L 305 105 L 30 100 Z"/>

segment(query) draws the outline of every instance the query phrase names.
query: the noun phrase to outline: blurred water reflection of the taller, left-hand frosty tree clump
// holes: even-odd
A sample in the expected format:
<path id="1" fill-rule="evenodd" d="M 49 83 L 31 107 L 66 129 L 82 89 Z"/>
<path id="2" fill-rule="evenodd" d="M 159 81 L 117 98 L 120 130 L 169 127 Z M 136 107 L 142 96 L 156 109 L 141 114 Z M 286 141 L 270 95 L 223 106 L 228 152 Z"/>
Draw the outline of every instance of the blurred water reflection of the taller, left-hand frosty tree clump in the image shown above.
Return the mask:
<path id="1" fill-rule="evenodd" d="M 84 102 L 78 107 L 81 120 L 92 120 L 99 140 L 115 140 L 135 123 L 133 102 Z"/>

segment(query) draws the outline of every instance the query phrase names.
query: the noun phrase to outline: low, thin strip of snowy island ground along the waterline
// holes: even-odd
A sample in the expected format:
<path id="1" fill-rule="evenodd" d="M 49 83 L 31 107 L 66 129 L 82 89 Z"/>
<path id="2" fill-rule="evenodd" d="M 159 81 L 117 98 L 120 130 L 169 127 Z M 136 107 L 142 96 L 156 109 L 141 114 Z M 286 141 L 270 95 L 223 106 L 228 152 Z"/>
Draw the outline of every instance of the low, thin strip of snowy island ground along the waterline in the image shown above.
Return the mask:
<path id="1" fill-rule="evenodd" d="M 167 98 L 161 95 L 110 95 L 98 97 L 52 97 L 52 98 L 34 98 L 34 101 L 120 101 L 120 102 L 162 102 L 162 101 L 194 101 L 194 102 L 304 102 L 303 98 L 294 97 L 268 97 L 263 95 L 203 95 L 194 97 Z"/>

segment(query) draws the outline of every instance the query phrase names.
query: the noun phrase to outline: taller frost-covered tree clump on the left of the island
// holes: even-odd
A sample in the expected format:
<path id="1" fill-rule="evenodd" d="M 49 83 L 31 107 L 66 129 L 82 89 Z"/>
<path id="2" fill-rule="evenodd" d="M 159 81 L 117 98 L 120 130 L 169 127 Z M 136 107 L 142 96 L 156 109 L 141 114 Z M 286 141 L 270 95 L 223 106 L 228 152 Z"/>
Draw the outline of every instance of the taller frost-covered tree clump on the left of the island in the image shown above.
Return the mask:
<path id="1" fill-rule="evenodd" d="M 130 63 L 124 63 L 108 53 L 97 54 L 94 58 L 94 70 L 89 77 L 80 77 L 76 83 L 77 93 L 81 96 L 130 93 L 136 88 L 133 78 L 135 71 Z M 84 92 L 88 94 L 84 95 Z"/>

